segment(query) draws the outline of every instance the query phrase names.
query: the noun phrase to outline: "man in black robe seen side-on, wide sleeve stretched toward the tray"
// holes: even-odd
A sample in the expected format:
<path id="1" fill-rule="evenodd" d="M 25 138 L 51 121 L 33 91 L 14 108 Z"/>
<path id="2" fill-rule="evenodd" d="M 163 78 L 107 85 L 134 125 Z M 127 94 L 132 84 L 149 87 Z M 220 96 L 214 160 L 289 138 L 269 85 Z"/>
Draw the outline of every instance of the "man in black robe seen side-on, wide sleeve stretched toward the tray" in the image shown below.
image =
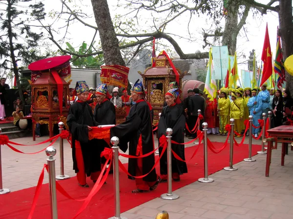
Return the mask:
<path id="1" fill-rule="evenodd" d="M 150 105 L 144 99 L 145 90 L 140 80 L 137 80 L 131 89 L 132 100 L 136 104 L 130 109 L 126 122 L 111 128 L 111 137 L 117 136 L 120 139 L 120 148 L 126 152 L 129 142 L 129 155 L 140 156 L 154 150 L 154 140 L 152 133 L 152 122 Z M 160 177 L 156 170 L 152 169 L 155 164 L 155 155 L 151 154 L 144 158 L 129 158 L 128 172 L 132 176 L 142 176 L 135 178 L 137 189 L 133 193 L 153 191 L 160 183 Z M 133 177 L 128 176 L 129 179 Z"/>

